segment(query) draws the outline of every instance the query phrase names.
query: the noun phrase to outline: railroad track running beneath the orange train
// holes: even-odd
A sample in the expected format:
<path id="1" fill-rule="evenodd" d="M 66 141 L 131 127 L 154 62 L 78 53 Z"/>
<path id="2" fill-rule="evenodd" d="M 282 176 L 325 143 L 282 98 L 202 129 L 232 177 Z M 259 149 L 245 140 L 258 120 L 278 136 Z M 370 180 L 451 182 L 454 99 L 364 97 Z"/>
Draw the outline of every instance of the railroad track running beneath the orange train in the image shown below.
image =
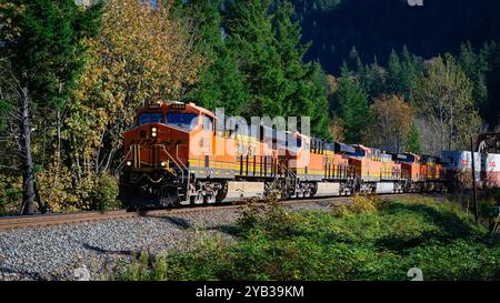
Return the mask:
<path id="1" fill-rule="evenodd" d="M 379 195 L 382 199 L 393 199 L 408 196 L 409 194 L 387 194 Z M 281 202 L 282 204 L 299 204 L 299 203 L 347 203 L 352 200 L 352 196 L 336 196 L 336 198 L 322 198 L 322 199 L 302 199 L 302 200 L 289 200 Z M 78 213 L 64 213 L 64 214 L 39 214 L 30 216 L 7 216 L 0 218 L 0 231 L 33 228 L 33 226 L 49 226 L 60 224 L 77 224 L 82 222 L 96 222 L 113 219 L 126 218 L 154 218 L 154 216 L 168 216 L 177 213 L 193 213 L 193 212 L 207 212 L 213 210 L 224 209 L 239 209 L 244 203 L 230 204 L 230 205 L 211 205 L 211 206 L 192 206 L 192 208 L 179 208 L 167 210 L 148 210 L 139 212 L 127 212 L 126 210 L 106 211 L 106 212 L 78 212 Z"/>

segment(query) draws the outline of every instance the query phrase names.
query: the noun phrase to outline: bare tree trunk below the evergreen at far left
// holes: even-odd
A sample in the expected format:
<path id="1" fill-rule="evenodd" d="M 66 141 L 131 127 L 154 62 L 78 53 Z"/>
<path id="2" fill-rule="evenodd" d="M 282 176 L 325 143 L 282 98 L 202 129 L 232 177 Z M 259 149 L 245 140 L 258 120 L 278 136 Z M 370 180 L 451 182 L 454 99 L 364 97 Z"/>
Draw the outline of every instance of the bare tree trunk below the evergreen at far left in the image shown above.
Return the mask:
<path id="1" fill-rule="evenodd" d="M 31 127 L 28 99 L 28 87 L 21 91 L 21 138 L 23 143 L 23 169 L 22 169 L 22 214 L 34 214 L 34 174 L 33 159 L 31 155 Z"/>

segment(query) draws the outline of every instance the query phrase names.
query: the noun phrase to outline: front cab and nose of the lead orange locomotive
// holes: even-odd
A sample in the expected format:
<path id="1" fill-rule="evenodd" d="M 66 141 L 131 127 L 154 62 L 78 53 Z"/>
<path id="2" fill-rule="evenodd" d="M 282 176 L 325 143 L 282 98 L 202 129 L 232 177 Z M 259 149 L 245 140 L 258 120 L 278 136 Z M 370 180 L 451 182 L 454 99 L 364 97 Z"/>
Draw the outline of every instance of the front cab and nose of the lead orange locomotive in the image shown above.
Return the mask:
<path id="1" fill-rule="evenodd" d="M 176 206 L 186 199 L 190 141 L 203 141 L 208 129 L 211 134 L 214 119 L 193 103 L 160 102 L 139 110 L 124 134 L 121 200 L 139 208 Z M 203 153 L 207 147 L 200 149 Z"/>

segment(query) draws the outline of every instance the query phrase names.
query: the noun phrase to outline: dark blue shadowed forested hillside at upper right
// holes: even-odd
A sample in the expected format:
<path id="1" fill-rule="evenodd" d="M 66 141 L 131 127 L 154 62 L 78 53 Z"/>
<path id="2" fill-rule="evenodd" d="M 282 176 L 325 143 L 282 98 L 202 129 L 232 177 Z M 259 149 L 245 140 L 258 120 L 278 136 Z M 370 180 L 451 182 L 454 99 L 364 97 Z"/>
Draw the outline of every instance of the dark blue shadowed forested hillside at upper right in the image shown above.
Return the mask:
<path id="1" fill-rule="evenodd" d="M 457 52 L 464 41 L 474 48 L 498 40 L 500 2 L 492 0 L 292 0 L 302 20 L 308 59 L 339 72 L 356 46 L 361 60 L 384 63 L 392 49 L 407 46 L 423 58 Z"/>

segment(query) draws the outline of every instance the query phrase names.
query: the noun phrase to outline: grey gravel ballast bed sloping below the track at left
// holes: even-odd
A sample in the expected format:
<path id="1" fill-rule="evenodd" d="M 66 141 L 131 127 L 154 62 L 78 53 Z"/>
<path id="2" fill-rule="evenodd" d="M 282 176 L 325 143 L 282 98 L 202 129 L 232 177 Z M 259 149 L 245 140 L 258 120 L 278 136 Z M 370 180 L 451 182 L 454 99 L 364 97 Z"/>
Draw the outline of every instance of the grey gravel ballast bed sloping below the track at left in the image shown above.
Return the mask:
<path id="1" fill-rule="evenodd" d="M 301 202 L 287 208 L 329 210 L 331 204 Z M 174 253 L 214 235 L 233 241 L 230 228 L 240 211 L 216 209 L 1 231 L 0 281 L 78 280 L 82 269 L 91 280 L 99 280 L 134 253 Z"/>

